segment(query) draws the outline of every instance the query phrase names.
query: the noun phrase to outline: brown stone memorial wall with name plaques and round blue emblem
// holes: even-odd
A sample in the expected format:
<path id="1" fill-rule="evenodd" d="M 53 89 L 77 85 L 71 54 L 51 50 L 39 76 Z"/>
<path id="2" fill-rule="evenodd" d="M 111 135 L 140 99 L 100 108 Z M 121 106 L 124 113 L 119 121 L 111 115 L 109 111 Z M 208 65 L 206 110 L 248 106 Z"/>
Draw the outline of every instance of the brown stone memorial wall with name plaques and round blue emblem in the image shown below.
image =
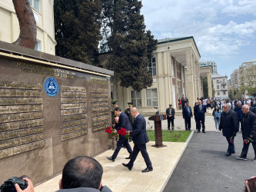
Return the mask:
<path id="1" fill-rule="evenodd" d="M 108 149 L 112 71 L 0 41 L 0 183 Z"/>

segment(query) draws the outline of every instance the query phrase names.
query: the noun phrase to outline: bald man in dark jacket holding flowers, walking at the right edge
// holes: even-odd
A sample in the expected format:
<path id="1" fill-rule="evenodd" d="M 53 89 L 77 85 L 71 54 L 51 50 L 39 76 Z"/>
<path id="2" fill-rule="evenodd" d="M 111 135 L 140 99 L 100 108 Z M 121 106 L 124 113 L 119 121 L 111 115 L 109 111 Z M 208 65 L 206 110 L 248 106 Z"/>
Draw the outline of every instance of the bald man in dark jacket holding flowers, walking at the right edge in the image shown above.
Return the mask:
<path id="1" fill-rule="evenodd" d="M 246 157 L 251 143 L 254 148 L 254 159 L 252 161 L 256 161 L 256 114 L 249 110 L 248 104 L 243 105 L 242 111 L 244 113 L 242 121 L 242 135 L 243 141 L 245 141 L 241 155 L 237 158 L 240 160 L 247 160 Z"/>

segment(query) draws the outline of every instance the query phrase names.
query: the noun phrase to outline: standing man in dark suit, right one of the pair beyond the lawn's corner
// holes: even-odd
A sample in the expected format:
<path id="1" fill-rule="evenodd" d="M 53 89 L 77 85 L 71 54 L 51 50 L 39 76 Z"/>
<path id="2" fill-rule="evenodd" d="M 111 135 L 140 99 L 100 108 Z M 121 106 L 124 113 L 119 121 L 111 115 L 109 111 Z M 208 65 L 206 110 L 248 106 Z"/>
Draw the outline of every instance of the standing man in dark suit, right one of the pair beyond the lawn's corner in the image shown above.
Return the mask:
<path id="1" fill-rule="evenodd" d="M 200 121 L 202 124 L 202 131 L 205 134 L 205 126 L 204 126 L 204 119 L 205 119 L 205 112 L 206 112 L 206 107 L 204 104 L 201 104 L 201 100 L 198 101 L 198 105 L 194 107 L 194 116 L 197 117 L 195 119 L 196 126 L 198 133 L 200 133 Z"/>

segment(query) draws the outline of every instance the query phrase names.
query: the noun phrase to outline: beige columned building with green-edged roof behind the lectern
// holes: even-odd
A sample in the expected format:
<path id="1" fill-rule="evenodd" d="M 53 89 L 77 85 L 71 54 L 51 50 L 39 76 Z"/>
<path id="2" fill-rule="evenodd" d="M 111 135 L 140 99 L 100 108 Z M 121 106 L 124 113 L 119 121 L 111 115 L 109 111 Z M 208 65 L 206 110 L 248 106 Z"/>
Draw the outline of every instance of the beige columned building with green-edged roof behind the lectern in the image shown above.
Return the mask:
<path id="1" fill-rule="evenodd" d="M 118 87 L 118 104 L 125 110 L 128 102 L 133 102 L 141 114 L 152 115 L 158 106 L 161 114 L 165 114 L 168 104 L 178 108 L 178 98 L 187 97 L 191 105 L 201 94 L 201 70 L 199 54 L 193 37 L 165 38 L 158 40 L 157 50 L 151 58 L 148 69 L 153 74 L 153 85 L 142 91 Z M 209 76 L 211 88 L 211 70 L 202 71 Z"/>

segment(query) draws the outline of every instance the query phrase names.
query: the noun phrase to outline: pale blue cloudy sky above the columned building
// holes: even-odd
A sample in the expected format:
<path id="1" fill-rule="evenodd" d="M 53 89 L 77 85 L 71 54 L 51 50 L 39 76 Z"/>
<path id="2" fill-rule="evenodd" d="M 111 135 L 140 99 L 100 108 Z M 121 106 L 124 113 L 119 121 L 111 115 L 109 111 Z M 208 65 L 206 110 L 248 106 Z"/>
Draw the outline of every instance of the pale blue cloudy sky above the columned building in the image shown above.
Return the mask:
<path id="1" fill-rule="evenodd" d="M 156 39 L 194 36 L 200 61 L 218 74 L 256 59 L 256 0 L 142 0 L 146 30 Z"/>

